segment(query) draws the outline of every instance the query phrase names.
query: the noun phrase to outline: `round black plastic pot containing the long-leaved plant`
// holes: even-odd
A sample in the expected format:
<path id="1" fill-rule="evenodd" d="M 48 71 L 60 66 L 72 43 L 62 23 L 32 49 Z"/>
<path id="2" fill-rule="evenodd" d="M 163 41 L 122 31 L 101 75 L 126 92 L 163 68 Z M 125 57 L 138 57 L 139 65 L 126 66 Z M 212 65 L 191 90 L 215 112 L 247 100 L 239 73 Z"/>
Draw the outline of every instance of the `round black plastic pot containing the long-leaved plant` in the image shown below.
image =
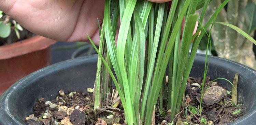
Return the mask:
<path id="1" fill-rule="evenodd" d="M 25 125 L 25 117 L 33 113 L 33 105 L 40 97 L 52 100 L 60 89 L 84 92 L 86 88 L 92 88 L 96 65 L 97 55 L 92 55 L 63 61 L 24 77 L 0 97 L 0 125 Z M 203 70 L 204 55 L 197 55 L 190 76 L 202 77 Z M 236 72 L 239 72 L 238 101 L 243 104 L 246 114 L 231 124 L 255 125 L 256 72 L 233 61 L 211 56 L 208 76 L 212 79 L 224 77 L 233 81 Z M 231 89 L 226 81 L 218 82 Z"/>

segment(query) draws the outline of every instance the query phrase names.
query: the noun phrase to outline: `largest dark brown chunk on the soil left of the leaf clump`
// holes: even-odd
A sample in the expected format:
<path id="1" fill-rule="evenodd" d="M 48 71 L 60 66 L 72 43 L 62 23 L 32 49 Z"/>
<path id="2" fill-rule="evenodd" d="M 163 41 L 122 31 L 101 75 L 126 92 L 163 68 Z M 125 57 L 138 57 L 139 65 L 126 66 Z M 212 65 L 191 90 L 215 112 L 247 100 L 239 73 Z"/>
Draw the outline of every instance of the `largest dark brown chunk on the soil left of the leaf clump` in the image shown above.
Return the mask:
<path id="1" fill-rule="evenodd" d="M 75 109 L 72 114 L 70 114 L 70 121 L 74 125 L 86 125 L 86 113 Z"/>

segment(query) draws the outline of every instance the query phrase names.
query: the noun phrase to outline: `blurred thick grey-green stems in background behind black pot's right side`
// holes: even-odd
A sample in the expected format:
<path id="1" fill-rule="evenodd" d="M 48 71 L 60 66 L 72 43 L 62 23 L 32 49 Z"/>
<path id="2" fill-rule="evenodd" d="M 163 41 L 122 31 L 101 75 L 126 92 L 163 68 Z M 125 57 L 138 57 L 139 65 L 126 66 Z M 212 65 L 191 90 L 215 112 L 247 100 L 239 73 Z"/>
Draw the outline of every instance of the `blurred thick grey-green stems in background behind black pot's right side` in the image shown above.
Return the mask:
<path id="1" fill-rule="evenodd" d="M 222 0 L 213 0 L 205 15 L 209 19 Z M 226 9 L 222 9 L 217 16 L 217 22 L 226 22 L 237 26 L 250 36 L 254 36 L 256 29 L 255 0 L 230 0 Z M 204 23 L 206 23 L 204 21 Z M 256 69 L 256 60 L 253 52 L 253 43 L 233 29 L 215 24 L 212 32 L 213 44 L 217 55 L 222 58 L 237 61 Z"/>

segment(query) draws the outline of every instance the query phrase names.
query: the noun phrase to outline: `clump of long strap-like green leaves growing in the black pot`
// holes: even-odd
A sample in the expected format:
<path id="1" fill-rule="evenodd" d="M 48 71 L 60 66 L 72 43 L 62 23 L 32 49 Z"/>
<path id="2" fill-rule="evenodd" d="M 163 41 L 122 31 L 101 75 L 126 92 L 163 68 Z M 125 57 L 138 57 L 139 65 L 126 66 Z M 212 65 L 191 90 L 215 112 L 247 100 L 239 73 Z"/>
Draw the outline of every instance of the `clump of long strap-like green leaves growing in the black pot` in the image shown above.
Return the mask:
<path id="1" fill-rule="evenodd" d="M 218 13 L 229 2 L 223 1 L 205 25 L 198 25 L 197 32 L 193 35 L 196 21 L 204 21 L 210 1 L 173 0 L 169 9 L 169 2 L 105 0 L 104 20 L 102 27 L 99 26 L 99 49 L 88 37 L 99 54 L 94 86 L 94 110 L 106 105 L 104 99 L 109 94 L 118 93 L 128 125 L 150 125 L 157 106 L 159 111 L 163 108 L 170 109 L 173 120 L 175 114 L 183 108 L 187 80 L 182 79 L 188 79 L 197 48 L 206 33 L 205 29 L 215 23 Z M 202 8 L 200 17 L 196 13 L 199 8 Z M 116 45 L 119 15 L 121 23 Z M 189 54 L 192 41 L 193 47 Z M 166 74 L 167 69 L 169 74 Z M 166 75 L 169 76 L 167 85 Z M 111 79 L 116 86 L 113 92 Z M 167 105 L 163 105 L 165 98 Z"/>

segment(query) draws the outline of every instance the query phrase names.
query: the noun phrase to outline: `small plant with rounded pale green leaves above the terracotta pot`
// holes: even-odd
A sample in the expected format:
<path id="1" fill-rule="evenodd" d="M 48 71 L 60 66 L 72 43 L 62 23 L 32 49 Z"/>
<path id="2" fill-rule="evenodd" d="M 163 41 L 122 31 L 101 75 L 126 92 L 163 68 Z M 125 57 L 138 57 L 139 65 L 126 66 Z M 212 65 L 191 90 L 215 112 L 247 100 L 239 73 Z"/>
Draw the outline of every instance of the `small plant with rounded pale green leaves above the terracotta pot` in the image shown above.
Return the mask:
<path id="1" fill-rule="evenodd" d="M 11 19 L 8 15 L 5 15 L 0 11 L 0 37 L 6 38 L 11 35 L 11 30 L 14 30 L 17 38 L 20 38 L 19 32 L 23 31 L 22 26 L 15 20 Z"/>

